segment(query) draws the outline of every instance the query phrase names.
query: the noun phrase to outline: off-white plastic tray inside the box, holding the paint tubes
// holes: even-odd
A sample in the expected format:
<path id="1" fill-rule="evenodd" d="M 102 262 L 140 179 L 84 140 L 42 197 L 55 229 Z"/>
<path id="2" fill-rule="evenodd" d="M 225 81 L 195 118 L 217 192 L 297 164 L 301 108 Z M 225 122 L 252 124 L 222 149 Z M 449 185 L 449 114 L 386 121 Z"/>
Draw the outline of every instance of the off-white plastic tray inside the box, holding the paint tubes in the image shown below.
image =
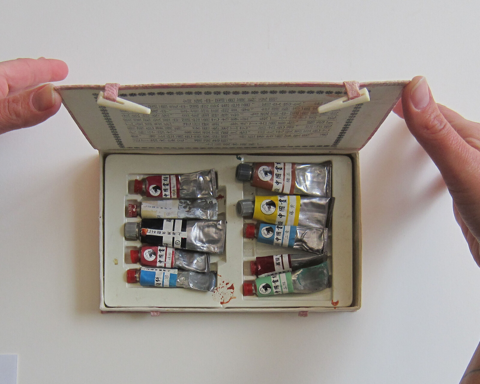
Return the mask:
<path id="1" fill-rule="evenodd" d="M 269 246 L 242 238 L 244 220 L 235 205 L 242 198 L 268 191 L 255 190 L 248 183 L 235 180 L 241 159 L 228 155 L 109 155 L 105 160 L 104 195 L 104 300 L 107 307 L 178 308 L 178 309 L 268 309 L 305 307 L 348 307 L 352 302 L 352 164 L 348 156 L 242 156 L 245 162 L 283 161 L 297 163 L 333 162 L 332 194 L 336 198 L 329 246 L 332 288 L 312 294 L 275 295 L 268 298 L 243 296 L 242 284 L 253 280 L 250 261 L 256 256 L 297 251 Z M 125 202 L 141 200 L 128 194 L 128 182 L 147 175 L 190 173 L 215 168 L 219 193 L 225 196 L 227 239 L 225 252 L 212 256 L 212 269 L 218 273 L 215 292 L 184 288 L 146 288 L 126 282 L 126 270 L 139 268 L 131 264 L 129 250 L 140 241 L 126 241 L 123 225 L 140 218 L 125 217 Z M 221 202 L 220 201 L 220 202 Z M 220 204 L 222 206 L 222 204 Z"/>

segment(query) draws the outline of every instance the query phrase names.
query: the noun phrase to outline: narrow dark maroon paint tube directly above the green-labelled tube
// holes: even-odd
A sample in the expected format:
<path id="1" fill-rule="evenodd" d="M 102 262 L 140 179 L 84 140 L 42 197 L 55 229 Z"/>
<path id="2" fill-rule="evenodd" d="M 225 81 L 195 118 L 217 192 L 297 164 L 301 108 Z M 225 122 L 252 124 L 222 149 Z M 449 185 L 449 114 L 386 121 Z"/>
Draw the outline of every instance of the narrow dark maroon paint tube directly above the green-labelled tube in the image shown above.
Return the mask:
<path id="1" fill-rule="evenodd" d="M 252 275 L 265 276 L 281 272 L 296 271 L 300 268 L 312 267 L 326 261 L 327 255 L 321 254 L 290 254 L 260 256 L 250 262 Z"/>

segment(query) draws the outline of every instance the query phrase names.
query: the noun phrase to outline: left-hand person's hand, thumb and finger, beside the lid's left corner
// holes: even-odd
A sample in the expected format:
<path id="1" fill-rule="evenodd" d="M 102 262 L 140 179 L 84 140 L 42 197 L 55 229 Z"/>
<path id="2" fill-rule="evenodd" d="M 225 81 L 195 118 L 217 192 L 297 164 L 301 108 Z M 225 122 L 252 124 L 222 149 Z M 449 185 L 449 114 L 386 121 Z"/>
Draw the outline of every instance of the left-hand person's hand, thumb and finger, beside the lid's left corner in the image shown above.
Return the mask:
<path id="1" fill-rule="evenodd" d="M 63 80 L 67 74 L 67 64 L 61 60 L 0 62 L 0 134 L 31 127 L 57 113 L 61 97 L 53 84 L 37 85 Z"/>

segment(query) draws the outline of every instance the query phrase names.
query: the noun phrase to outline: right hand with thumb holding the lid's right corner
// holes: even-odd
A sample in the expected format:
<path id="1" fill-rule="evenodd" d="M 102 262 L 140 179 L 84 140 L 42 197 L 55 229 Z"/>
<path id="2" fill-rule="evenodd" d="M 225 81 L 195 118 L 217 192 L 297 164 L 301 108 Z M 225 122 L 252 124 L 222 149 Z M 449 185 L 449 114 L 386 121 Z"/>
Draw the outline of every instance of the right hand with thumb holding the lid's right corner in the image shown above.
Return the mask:
<path id="1" fill-rule="evenodd" d="M 404 88 L 394 112 L 440 170 L 456 221 L 480 266 L 480 124 L 436 104 L 422 76 Z"/>

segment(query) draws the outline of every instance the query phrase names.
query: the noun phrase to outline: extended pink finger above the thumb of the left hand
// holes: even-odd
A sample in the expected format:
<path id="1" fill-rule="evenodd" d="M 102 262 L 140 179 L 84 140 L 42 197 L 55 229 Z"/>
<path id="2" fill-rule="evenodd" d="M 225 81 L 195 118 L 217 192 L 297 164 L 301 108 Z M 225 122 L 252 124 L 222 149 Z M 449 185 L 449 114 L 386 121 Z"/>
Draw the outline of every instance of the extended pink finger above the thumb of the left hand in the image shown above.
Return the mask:
<path id="1" fill-rule="evenodd" d="M 16 59 L 0 62 L 0 99 L 38 84 L 63 80 L 68 67 L 56 59 Z"/>

